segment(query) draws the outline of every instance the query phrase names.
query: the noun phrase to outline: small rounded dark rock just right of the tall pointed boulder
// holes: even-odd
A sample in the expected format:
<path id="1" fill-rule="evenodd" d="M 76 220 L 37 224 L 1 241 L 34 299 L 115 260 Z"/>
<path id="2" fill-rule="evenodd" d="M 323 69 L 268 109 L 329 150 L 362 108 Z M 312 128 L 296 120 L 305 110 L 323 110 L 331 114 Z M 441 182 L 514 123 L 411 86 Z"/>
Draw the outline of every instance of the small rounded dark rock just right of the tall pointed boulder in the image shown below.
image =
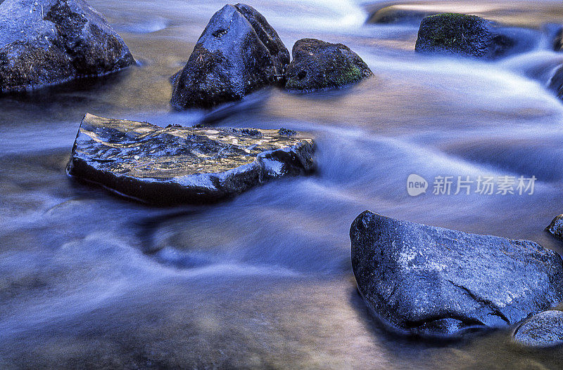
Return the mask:
<path id="1" fill-rule="evenodd" d="M 339 88 L 373 74 L 362 58 L 343 44 L 301 39 L 293 45 L 292 54 L 285 73 L 290 91 Z"/>

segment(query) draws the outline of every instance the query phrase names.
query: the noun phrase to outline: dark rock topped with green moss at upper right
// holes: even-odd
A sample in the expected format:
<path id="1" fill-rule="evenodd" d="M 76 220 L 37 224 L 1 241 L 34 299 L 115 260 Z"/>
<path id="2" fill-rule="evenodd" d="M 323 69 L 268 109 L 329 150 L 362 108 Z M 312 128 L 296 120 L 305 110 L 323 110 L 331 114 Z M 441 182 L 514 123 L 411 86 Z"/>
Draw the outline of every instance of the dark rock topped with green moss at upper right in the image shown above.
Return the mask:
<path id="1" fill-rule="evenodd" d="M 498 58 L 518 41 L 492 22 L 476 15 L 443 13 L 430 15 L 420 24 L 415 50 L 474 58 Z"/>

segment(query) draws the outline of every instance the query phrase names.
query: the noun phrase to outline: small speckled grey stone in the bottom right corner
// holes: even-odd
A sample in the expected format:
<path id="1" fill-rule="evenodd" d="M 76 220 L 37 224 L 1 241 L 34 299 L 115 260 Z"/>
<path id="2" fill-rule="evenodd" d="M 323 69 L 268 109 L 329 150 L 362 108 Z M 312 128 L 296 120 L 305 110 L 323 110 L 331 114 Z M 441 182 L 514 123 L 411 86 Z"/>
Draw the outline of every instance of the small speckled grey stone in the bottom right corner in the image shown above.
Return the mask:
<path id="1" fill-rule="evenodd" d="M 531 347 L 563 344 L 563 312 L 545 311 L 534 315 L 514 333 L 514 340 Z"/>

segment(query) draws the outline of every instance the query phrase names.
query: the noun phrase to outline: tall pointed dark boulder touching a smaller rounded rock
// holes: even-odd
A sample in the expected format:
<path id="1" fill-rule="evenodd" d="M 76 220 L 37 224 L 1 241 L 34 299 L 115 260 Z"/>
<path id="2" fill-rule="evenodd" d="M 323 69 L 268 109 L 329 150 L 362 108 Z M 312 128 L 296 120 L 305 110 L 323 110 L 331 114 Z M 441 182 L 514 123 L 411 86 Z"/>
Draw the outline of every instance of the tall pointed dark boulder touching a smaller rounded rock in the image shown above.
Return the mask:
<path id="1" fill-rule="evenodd" d="M 177 109 L 210 108 L 241 100 L 277 84 L 289 51 L 254 8 L 225 5 L 213 15 L 186 66 L 172 77 L 171 103 Z"/>

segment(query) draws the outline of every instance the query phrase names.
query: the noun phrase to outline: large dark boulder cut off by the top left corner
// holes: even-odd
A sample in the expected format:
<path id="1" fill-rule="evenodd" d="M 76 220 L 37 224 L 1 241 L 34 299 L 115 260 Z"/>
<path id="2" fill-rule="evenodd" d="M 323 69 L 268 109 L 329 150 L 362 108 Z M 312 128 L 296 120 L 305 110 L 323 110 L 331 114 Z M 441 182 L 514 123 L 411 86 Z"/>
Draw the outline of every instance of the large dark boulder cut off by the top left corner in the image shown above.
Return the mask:
<path id="1" fill-rule="evenodd" d="M 83 0 L 0 5 L 0 89 L 23 91 L 134 64 L 129 48 Z"/>

